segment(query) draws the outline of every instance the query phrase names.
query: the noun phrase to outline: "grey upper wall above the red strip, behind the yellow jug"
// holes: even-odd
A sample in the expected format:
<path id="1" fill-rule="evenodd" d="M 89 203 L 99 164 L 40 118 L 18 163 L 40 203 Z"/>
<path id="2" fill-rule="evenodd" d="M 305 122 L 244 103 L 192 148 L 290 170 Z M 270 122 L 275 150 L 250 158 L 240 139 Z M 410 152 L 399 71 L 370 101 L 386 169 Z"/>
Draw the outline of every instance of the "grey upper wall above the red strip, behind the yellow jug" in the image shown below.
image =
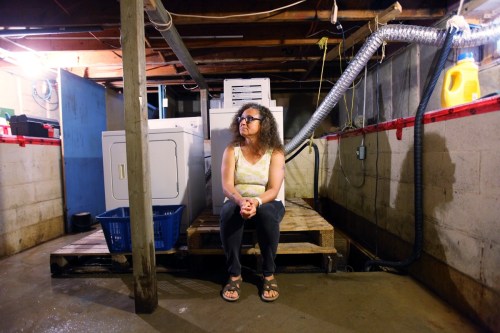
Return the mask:
<path id="1" fill-rule="evenodd" d="M 366 103 L 363 101 L 364 77 L 362 72 L 361 79 L 355 82 L 355 88 L 352 89 L 351 85 L 345 92 L 345 96 L 340 98 L 337 103 L 335 111 L 338 108 L 338 116 L 330 116 L 330 118 L 338 118 L 338 125 L 343 128 L 349 124 L 349 119 L 354 120 L 363 115 L 365 125 L 414 116 L 427 81 L 432 74 L 431 71 L 435 68 L 439 50 L 440 48 L 434 46 L 412 44 L 401 53 L 369 68 L 366 82 Z M 441 89 L 445 71 L 454 66 L 458 55 L 465 51 L 474 52 L 476 58 L 478 58 L 477 54 L 480 53 L 479 48 L 451 51 L 445 68 L 436 82 L 426 111 L 441 109 Z M 499 91 L 499 76 L 498 59 L 496 64 L 490 62 L 479 67 L 481 96 Z M 379 98 L 375 100 L 377 91 Z M 317 133 L 322 132 L 318 131 Z"/>

